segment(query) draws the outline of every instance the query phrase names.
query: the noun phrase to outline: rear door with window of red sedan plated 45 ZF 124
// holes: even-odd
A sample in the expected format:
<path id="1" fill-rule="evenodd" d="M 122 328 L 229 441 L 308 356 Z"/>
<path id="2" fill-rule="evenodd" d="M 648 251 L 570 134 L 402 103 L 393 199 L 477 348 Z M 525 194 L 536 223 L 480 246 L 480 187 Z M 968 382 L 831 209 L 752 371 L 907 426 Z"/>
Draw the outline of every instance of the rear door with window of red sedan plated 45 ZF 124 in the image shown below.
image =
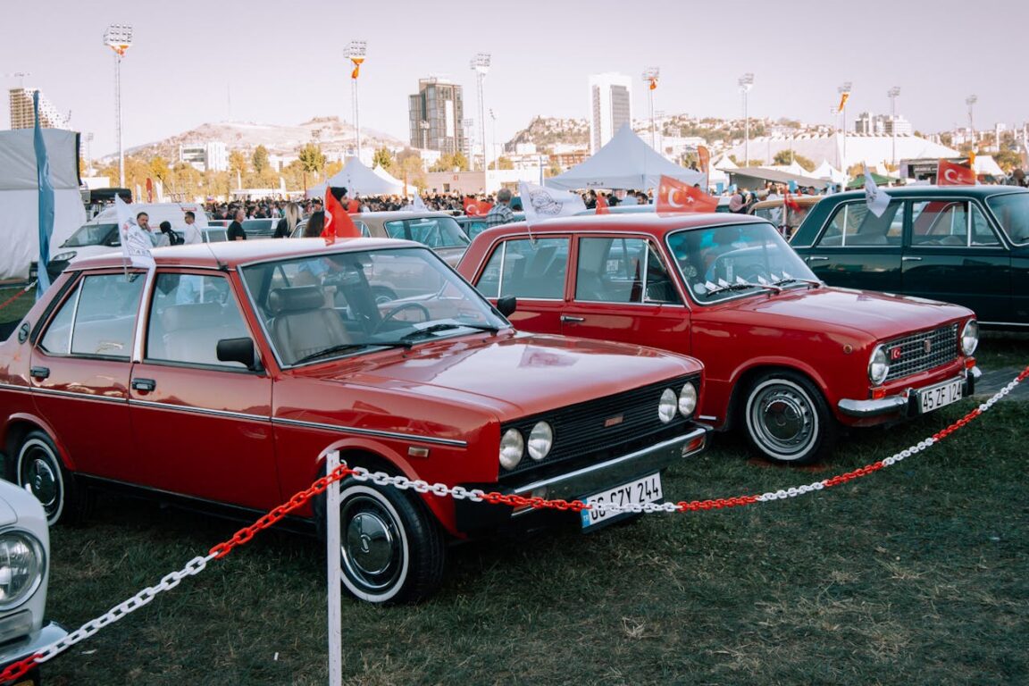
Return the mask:
<path id="1" fill-rule="evenodd" d="M 570 244 L 567 236 L 551 234 L 501 241 L 475 276 L 474 286 L 494 303 L 503 296 L 518 298 L 518 309 L 508 317 L 516 328 L 561 333 Z"/>

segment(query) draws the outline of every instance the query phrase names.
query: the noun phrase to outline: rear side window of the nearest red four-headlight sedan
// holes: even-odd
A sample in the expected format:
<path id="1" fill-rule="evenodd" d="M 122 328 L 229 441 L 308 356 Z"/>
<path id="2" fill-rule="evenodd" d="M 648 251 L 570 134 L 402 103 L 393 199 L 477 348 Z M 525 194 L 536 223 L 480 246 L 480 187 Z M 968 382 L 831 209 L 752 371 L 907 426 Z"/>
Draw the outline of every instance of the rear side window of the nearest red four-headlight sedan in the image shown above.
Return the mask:
<path id="1" fill-rule="evenodd" d="M 54 316 L 40 347 L 59 355 L 128 360 L 143 282 L 139 273 L 84 277 Z"/>

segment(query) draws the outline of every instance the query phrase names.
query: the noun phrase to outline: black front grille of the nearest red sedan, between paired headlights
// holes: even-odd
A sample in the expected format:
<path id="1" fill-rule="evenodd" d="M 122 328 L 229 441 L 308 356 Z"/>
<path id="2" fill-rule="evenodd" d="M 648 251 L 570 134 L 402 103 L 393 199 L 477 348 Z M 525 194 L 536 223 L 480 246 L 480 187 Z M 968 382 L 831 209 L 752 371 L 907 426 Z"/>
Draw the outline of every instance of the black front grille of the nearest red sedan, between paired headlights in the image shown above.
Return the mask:
<path id="1" fill-rule="evenodd" d="M 658 404 L 665 389 L 678 394 L 686 382 L 691 382 L 700 393 L 700 376 L 690 374 L 505 424 L 500 429 L 501 435 L 514 428 L 528 442 L 532 427 L 545 421 L 554 430 L 554 447 L 539 462 L 527 453 L 513 470 L 501 469 L 500 480 L 528 470 L 546 471 L 546 466 L 577 459 L 603 462 L 682 434 L 691 426 L 690 420 L 676 413 L 675 419 L 664 424 L 658 419 Z"/>

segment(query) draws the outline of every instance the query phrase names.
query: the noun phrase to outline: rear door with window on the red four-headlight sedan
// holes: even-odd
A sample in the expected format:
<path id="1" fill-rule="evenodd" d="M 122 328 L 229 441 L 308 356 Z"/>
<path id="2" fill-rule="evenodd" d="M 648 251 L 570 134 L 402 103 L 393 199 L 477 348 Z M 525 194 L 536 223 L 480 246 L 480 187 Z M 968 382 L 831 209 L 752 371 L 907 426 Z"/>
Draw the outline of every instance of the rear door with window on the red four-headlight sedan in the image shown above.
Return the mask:
<path id="1" fill-rule="evenodd" d="M 133 475 L 131 353 L 145 275 L 83 274 L 32 348 L 36 410 L 77 472 Z"/>

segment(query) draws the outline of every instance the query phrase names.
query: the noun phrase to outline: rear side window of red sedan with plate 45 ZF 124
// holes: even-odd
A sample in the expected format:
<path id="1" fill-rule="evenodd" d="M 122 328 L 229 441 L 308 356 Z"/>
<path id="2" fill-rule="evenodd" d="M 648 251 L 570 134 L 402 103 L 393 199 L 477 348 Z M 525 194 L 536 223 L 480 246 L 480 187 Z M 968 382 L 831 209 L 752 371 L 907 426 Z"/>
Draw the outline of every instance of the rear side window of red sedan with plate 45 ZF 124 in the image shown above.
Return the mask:
<path id="1" fill-rule="evenodd" d="M 497 246 L 476 288 L 486 297 L 560 300 L 568 272 L 568 239 L 513 239 Z"/>

